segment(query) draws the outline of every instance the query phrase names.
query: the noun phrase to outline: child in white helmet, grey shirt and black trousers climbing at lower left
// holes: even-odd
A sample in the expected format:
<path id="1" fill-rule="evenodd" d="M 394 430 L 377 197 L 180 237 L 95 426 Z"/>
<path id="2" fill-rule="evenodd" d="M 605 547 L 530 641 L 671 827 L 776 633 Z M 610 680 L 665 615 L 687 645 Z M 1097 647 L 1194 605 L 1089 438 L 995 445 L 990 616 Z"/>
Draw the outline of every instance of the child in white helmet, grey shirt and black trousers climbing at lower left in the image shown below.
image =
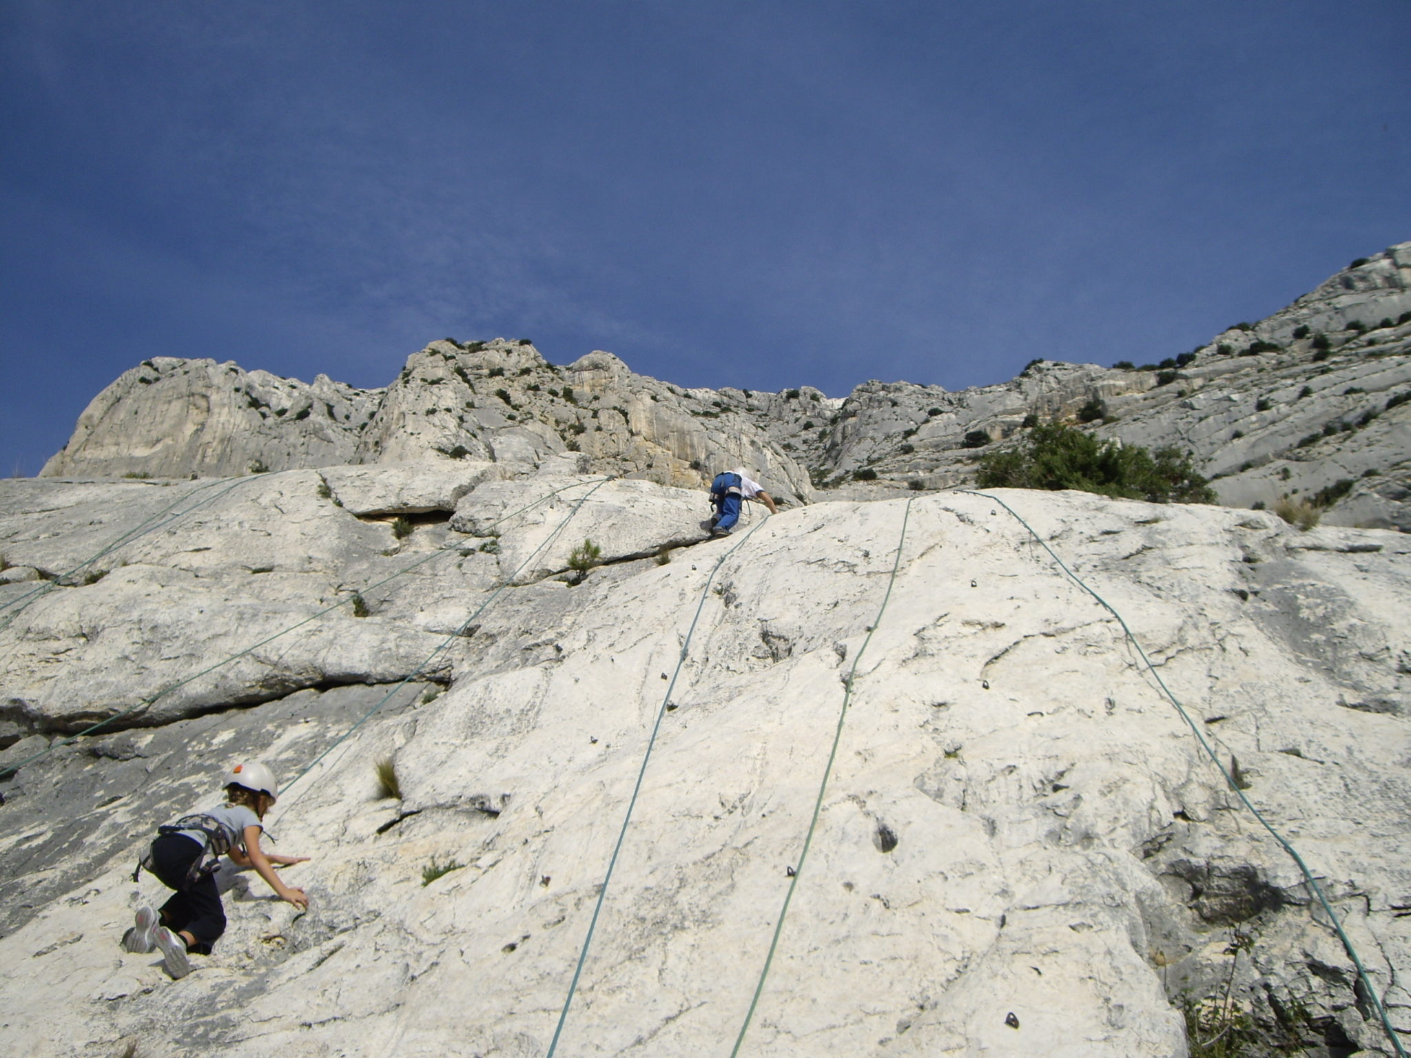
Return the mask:
<path id="1" fill-rule="evenodd" d="M 299 908 L 309 906 L 302 889 L 291 889 L 275 873 L 274 863 L 303 863 L 308 856 L 279 856 L 260 848 L 261 820 L 270 811 L 279 784 L 261 763 L 236 765 L 226 773 L 227 803 L 205 813 L 183 815 L 158 827 L 151 849 L 133 872 L 147 868 L 168 889 L 176 890 L 158 914 L 137 908 L 137 924 L 123 934 L 123 948 L 145 954 L 161 948 L 166 972 L 183 978 L 190 972 L 188 952 L 210 955 L 226 931 L 226 911 L 213 872 L 223 855 L 240 868 L 254 868 L 270 887 Z"/>

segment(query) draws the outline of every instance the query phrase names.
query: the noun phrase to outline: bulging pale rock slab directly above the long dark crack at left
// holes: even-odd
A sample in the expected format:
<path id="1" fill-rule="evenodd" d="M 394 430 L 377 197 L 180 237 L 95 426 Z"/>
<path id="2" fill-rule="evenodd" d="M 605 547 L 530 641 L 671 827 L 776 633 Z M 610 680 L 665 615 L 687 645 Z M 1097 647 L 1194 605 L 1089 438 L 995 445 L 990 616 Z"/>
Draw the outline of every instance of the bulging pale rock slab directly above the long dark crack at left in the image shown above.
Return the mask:
<path id="1" fill-rule="evenodd" d="M 161 724 L 302 687 L 387 683 L 443 640 L 377 616 L 357 619 L 350 607 L 293 628 L 334 600 L 320 600 L 316 584 L 299 591 L 295 581 L 251 580 L 268 594 L 128 566 L 45 597 L 24 614 L 24 632 L 0 667 L 0 708 L 38 731 L 69 731 L 155 698 L 127 722 Z M 437 657 L 425 677 L 444 677 L 449 664 Z"/>

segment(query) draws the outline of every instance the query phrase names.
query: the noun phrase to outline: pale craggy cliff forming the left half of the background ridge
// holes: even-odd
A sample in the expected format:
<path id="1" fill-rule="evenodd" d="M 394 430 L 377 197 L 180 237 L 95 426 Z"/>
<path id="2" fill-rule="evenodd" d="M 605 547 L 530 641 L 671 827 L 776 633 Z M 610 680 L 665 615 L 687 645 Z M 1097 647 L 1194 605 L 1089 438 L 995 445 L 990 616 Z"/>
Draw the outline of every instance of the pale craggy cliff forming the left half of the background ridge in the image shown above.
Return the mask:
<path id="1" fill-rule="evenodd" d="M 433 341 L 389 387 L 370 391 L 166 358 L 99 394 L 41 475 L 471 460 L 508 477 L 581 453 L 598 473 L 689 488 L 744 464 L 773 495 L 807 499 L 793 444 L 762 418 L 776 402 L 735 392 L 679 389 L 602 351 L 555 367 L 528 341 L 504 339 Z"/>

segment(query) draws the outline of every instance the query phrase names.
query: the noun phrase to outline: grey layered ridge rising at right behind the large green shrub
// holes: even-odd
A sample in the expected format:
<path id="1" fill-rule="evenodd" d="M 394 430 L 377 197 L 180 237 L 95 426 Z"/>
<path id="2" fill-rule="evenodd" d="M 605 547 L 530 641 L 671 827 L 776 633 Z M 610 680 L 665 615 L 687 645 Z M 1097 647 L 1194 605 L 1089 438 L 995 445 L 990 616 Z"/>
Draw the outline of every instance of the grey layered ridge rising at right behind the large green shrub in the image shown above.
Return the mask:
<path id="1" fill-rule="evenodd" d="M 1010 382 L 957 394 L 868 382 L 830 419 L 810 466 L 849 497 L 944 488 L 972 481 L 981 453 L 1022 437 L 1026 422 L 1086 422 L 1125 443 L 1191 451 L 1222 502 L 1322 494 L 1329 523 L 1411 532 L 1408 399 L 1403 243 L 1150 370 L 1036 360 Z M 858 474 L 875 480 L 849 484 Z"/>

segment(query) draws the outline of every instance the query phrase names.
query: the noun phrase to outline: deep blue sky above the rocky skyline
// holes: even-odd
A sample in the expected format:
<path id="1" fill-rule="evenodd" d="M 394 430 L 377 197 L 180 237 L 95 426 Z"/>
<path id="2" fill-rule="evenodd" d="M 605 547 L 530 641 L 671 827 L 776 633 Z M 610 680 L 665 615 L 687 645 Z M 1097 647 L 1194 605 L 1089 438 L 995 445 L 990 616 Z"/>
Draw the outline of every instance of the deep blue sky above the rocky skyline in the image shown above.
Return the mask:
<path id="1" fill-rule="evenodd" d="M 1411 238 L 1411 0 L 0 0 L 0 473 L 151 355 L 1153 360 Z"/>

